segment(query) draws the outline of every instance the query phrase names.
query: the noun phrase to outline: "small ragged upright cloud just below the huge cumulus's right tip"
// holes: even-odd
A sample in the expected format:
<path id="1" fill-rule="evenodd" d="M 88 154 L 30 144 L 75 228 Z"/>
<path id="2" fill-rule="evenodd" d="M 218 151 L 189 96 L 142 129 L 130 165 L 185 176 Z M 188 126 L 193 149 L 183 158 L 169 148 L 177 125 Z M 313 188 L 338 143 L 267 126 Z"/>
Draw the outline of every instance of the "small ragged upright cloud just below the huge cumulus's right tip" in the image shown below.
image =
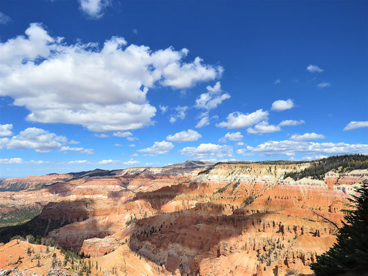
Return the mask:
<path id="1" fill-rule="evenodd" d="M 216 108 L 225 99 L 230 98 L 228 93 L 221 94 L 222 90 L 220 81 L 217 81 L 213 87 L 207 86 L 206 89 L 208 92 L 201 94 L 200 97 L 195 100 L 196 108 L 211 110 Z"/>

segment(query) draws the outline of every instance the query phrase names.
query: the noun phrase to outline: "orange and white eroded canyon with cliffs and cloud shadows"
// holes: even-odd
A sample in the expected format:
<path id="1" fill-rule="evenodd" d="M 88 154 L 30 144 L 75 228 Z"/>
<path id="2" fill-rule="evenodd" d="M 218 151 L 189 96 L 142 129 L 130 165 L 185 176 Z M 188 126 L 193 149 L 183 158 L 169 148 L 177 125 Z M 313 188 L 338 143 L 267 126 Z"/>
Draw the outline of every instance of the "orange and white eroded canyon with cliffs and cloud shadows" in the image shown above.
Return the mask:
<path id="1" fill-rule="evenodd" d="M 94 275 L 311 275 L 308 264 L 336 242 L 342 209 L 368 179 L 367 168 L 285 177 L 316 164 L 186 161 L 4 179 L 0 275 L 46 275 L 55 258 L 52 271 L 76 273 L 58 247 L 80 253 Z M 11 223 L 29 210 L 35 217 Z M 57 246 L 46 253 L 19 237 L 9 242 L 15 235 Z"/>

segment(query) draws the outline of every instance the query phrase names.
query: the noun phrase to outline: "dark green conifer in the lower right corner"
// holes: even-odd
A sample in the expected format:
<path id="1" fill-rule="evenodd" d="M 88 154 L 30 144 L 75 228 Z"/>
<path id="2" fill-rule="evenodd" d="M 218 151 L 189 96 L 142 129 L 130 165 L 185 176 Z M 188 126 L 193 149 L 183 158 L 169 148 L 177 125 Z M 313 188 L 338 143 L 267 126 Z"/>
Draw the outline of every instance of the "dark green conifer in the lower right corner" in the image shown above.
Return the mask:
<path id="1" fill-rule="evenodd" d="M 337 234 L 336 244 L 311 264 L 316 276 L 363 275 L 368 268 L 368 182 L 350 199 L 352 210 L 345 210 L 346 222 Z"/>

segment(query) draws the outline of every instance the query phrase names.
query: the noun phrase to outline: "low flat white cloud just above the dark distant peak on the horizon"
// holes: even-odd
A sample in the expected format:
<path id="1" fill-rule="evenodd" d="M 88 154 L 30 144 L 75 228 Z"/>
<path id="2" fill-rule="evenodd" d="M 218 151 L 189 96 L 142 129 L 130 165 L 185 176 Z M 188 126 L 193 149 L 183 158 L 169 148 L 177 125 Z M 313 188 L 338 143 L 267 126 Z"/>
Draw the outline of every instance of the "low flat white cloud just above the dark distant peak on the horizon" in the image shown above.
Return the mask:
<path id="1" fill-rule="evenodd" d="M 233 148 L 231 146 L 220 146 L 216 144 L 200 144 L 200 146 L 186 147 L 179 150 L 182 155 L 188 155 L 194 159 L 219 159 L 231 157 L 233 155 Z"/>

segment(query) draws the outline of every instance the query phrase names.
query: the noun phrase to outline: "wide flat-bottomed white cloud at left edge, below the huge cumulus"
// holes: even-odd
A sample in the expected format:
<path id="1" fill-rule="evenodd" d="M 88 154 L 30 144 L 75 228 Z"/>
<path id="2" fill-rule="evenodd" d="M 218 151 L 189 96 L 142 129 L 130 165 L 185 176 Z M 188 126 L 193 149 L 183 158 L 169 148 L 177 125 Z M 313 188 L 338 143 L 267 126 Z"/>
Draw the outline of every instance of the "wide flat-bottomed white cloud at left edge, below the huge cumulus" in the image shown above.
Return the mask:
<path id="1" fill-rule="evenodd" d="M 33 149 L 37 152 L 50 152 L 67 143 L 64 136 L 56 135 L 41 128 L 26 128 L 19 135 L 0 139 L 0 148 L 26 150 Z"/>

